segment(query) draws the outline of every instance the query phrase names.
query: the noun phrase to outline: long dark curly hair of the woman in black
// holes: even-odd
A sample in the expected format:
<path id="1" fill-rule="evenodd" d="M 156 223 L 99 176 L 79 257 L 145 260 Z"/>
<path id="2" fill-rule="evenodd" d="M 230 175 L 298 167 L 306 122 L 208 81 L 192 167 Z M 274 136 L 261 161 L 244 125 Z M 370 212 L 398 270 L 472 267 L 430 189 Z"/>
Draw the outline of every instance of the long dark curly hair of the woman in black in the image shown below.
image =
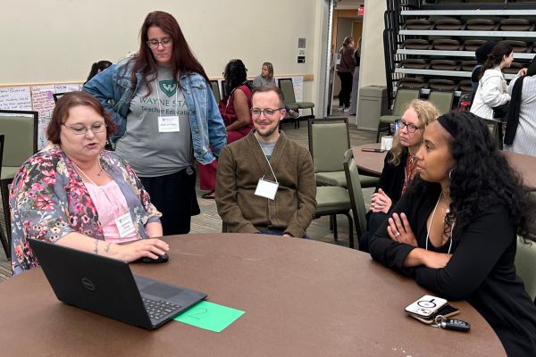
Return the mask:
<path id="1" fill-rule="evenodd" d="M 517 234 L 536 242 L 536 199 L 498 150 L 484 121 L 471 112 L 449 112 L 438 121 L 450 133 L 448 149 L 455 162 L 449 173 L 451 203 L 445 232 L 449 233 L 456 220 L 453 232 L 456 239 L 474 217 L 490 207 L 503 206 Z M 439 193 L 438 184 L 417 181 L 416 190 L 431 195 Z"/>

